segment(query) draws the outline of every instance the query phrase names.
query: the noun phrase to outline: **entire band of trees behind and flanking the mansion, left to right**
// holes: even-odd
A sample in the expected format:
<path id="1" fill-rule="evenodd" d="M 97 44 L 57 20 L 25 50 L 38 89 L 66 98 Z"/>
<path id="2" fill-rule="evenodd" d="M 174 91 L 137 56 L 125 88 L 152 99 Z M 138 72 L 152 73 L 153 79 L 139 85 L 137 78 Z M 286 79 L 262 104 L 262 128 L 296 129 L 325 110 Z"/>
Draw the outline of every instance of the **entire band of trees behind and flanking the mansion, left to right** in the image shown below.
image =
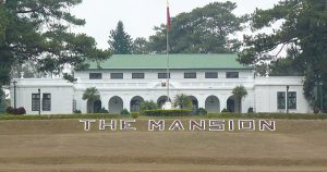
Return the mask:
<path id="1" fill-rule="evenodd" d="M 82 0 L 0 0 L 0 86 L 9 84 L 15 66 L 25 63 L 38 72 L 59 74 L 68 65 L 82 70 L 89 61 L 100 64 L 111 53 L 166 53 L 165 24 L 156 26 L 153 36 L 132 40 L 119 22 L 110 32 L 109 49 L 97 49 L 93 37 L 70 32 L 85 24 L 69 10 L 80 3 Z M 258 75 L 302 75 L 304 95 L 316 106 L 317 86 L 320 93 L 327 88 L 326 1 L 281 0 L 271 9 L 256 9 L 243 16 L 233 14 L 235 8 L 230 1 L 214 2 L 172 17 L 170 52 L 238 53 L 239 62 L 254 66 Z M 281 26 L 271 34 L 261 32 L 276 22 Z M 245 27 L 259 34 L 244 35 L 243 40 L 233 37 Z M 287 51 L 283 57 L 282 50 Z"/>

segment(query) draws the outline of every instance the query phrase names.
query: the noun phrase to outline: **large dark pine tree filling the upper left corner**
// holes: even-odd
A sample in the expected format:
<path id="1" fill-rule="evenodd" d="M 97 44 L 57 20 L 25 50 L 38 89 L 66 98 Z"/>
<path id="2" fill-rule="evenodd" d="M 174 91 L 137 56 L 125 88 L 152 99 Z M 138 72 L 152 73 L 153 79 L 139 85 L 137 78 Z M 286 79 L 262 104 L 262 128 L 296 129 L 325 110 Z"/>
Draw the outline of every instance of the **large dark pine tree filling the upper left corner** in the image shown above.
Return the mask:
<path id="1" fill-rule="evenodd" d="M 12 66 L 26 61 L 38 70 L 59 74 L 69 64 L 85 67 L 86 61 L 109 58 L 96 48 L 94 38 L 70 32 L 84 20 L 69 11 L 82 0 L 1 0 L 0 1 L 0 85 L 8 84 Z"/>

